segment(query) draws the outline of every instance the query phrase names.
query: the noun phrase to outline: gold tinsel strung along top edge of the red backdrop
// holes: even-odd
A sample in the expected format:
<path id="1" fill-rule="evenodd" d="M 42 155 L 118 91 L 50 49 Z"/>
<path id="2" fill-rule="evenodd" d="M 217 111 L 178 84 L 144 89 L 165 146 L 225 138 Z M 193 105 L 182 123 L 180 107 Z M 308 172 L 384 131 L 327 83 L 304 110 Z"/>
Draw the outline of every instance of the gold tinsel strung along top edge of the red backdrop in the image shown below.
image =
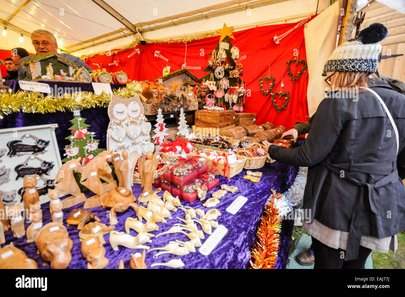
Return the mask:
<path id="1" fill-rule="evenodd" d="M 147 39 L 145 38 L 145 41 L 147 43 L 166 43 L 166 44 L 175 44 L 175 43 L 186 43 L 186 42 L 190 42 L 190 41 L 196 41 L 196 40 L 201 40 L 204 39 L 205 37 L 211 37 L 211 36 L 216 36 L 216 35 L 221 35 L 220 33 L 216 32 L 216 31 L 212 31 L 212 32 L 206 32 L 203 34 L 199 34 L 199 35 L 193 35 L 193 36 L 186 36 L 183 38 L 179 38 L 179 39 L 171 39 L 171 40 L 162 40 L 162 39 Z M 126 51 L 127 49 L 133 49 L 134 47 L 136 47 L 137 45 L 141 44 L 141 38 L 137 38 L 135 41 L 133 41 L 132 43 L 130 43 L 129 45 L 127 45 L 126 47 L 122 48 L 122 49 L 115 49 L 113 51 L 106 51 L 106 52 L 102 52 L 102 53 L 90 53 L 88 55 L 82 55 L 79 58 L 86 59 L 86 58 L 93 58 L 94 56 L 106 56 L 107 54 L 112 56 L 112 55 L 116 55 L 117 53 L 122 53 L 123 51 Z M 68 53 L 72 53 L 72 52 L 68 52 Z"/>

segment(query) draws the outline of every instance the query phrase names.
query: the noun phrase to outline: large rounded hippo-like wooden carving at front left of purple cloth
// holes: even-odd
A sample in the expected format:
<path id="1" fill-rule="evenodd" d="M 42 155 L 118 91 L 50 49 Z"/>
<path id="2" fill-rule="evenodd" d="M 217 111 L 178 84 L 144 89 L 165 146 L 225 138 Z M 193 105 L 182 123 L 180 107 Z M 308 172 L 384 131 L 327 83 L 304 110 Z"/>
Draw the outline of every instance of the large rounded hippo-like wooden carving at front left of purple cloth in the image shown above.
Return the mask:
<path id="1" fill-rule="evenodd" d="M 62 224 L 52 222 L 43 226 L 36 235 L 35 243 L 38 254 L 42 256 L 43 266 L 50 263 L 52 269 L 66 269 L 72 261 L 70 250 L 73 241 Z"/>

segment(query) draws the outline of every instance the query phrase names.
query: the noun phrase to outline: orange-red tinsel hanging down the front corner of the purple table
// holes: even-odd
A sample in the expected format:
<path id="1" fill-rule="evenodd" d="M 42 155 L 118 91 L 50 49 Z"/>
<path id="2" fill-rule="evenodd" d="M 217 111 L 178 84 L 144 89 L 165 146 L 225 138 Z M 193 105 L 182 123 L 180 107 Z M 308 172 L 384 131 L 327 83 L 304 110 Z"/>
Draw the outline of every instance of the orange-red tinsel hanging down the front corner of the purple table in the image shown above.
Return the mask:
<path id="1" fill-rule="evenodd" d="M 280 243 L 281 218 L 278 210 L 274 208 L 274 199 L 280 199 L 281 194 L 271 189 L 269 204 L 264 206 L 260 225 L 256 233 L 256 243 L 252 249 L 250 261 L 253 269 L 273 269 L 277 259 L 277 250 Z"/>

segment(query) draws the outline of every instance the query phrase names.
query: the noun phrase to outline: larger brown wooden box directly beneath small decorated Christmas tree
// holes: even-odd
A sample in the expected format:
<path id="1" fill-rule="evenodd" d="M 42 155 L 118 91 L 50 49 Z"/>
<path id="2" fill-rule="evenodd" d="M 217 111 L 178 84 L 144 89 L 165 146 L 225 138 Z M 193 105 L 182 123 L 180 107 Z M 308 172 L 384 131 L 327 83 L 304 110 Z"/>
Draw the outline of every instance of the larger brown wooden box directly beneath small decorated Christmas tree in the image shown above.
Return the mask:
<path id="1" fill-rule="evenodd" d="M 223 128 L 234 124 L 234 110 L 196 110 L 194 123 L 199 127 Z"/>

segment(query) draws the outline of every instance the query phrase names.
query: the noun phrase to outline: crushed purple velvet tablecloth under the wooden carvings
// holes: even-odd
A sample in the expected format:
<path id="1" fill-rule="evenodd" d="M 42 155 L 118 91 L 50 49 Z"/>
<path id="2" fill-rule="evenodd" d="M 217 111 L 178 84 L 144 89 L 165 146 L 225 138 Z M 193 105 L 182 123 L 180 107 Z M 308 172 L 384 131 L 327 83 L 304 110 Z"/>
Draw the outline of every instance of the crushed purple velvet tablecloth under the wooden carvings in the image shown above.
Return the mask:
<path id="1" fill-rule="evenodd" d="M 232 186 L 239 187 L 239 190 L 235 193 L 228 192 L 222 199 L 221 203 L 217 205 L 217 209 L 220 210 L 221 216 L 218 218 L 218 222 L 223 224 L 226 228 L 228 228 L 228 233 L 225 237 L 220 241 L 220 243 L 214 248 L 214 250 L 208 256 L 203 256 L 198 252 L 190 253 L 185 256 L 175 256 L 173 254 L 162 254 L 154 259 L 156 251 L 151 251 L 146 253 L 146 265 L 149 268 L 152 263 L 162 263 L 168 262 L 171 259 L 179 259 L 185 263 L 185 267 L 183 268 L 233 268 L 233 269 L 243 269 L 248 268 L 250 258 L 250 251 L 255 241 L 256 230 L 260 221 L 260 216 L 262 214 L 263 207 L 268 200 L 270 189 L 274 188 L 279 192 L 284 192 L 287 190 L 296 177 L 298 168 L 290 165 L 286 165 L 279 162 L 274 162 L 272 164 L 266 163 L 266 165 L 260 169 L 263 172 L 263 176 L 259 183 L 255 184 L 252 182 L 243 179 L 243 175 L 246 172 L 244 169 L 242 173 L 236 175 L 235 177 L 231 178 L 231 181 L 228 182 L 227 179 L 224 177 L 220 177 L 220 185 L 221 184 L 228 184 Z M 215 190 L 220 189 L 219 187 L 211 190 L 208 193 L 208 197 L 211 197 L 211 193 Z M 135 184 L 133 187 L 135 197 L 138 197 L 141 193 L 141 187 L 139 184 Z M 162 196 L 163 192 L 159 194 Z M 230 214 L 226 212 L 226 208 L 239 196 L 247 197 L 247 202 L 243 207 L 237 212 L 237 214 Z M 90 193 L 87 196 L 91 196 Z M 62 198 L 63 199 L 63 198 Z M 194 209 L 201 208 L 205 212 L 207 208 L 203 207 L 203 202 L 194 201 L 193 203 L 187 203 L 182 201 L 183 206 L 190 205 Z M 64 225 L 66 226 L 66 218 L 70 214 L 73 209 L 83 208 L 83 203 L 75 205 L 73 207 L 64 209 Z M 101 222 L 104 224 L 109 225 L 108 209 L 103 209 L 102 207 L 96 207 L 93 209 L 89 209 L 100 218 Z M 51 222 L 51 218 L 49 215 L 49 203 L 44 203 L 42 205 L 43 211 L 43 223 L 46 224 Z M 182 223 L 180 220 L 176 218 L 179 216 L 180 218 L 185 218 L 185 213 L 183 210 L 178 209 L 177 212 L 171 212 L 173 219 L 167 219 L 167 223 L 158 223 L 160 226 L 158 231 L 152 232 L 153 234 L 158 234 L 170 229 L 176 223 Z M 124 213 L 118 213 L 117 219 L 118 224 L 115 225 L 116 231 L 124 231 L 124 224 L 127 217 L 135 217 L 135 213 L 132 209 L 128 209 Z M 145 222 L 145 221 L 144 221 Z M 29 224 L 26 224 L 26 229 Z M 197 224 L 199 226 L 199 224 Z M 201 227 L 199 226 L 199 229 Z M 80 252 L 80 244 L 79 241 L 79 230 L 77 230 L 77 226 L 67 226 L 69 237 L 73 241 L 73 248 L 72 252 L 72 261 L 68 268 L 86 268 L 86 260 L 83 258 Z M 277 259 L 276 267 L 275 268 L 284 268 L 287 261 L 287 254 L 288 248 L 290 246 L 290 238 L 291 238 L 291 231 L 292 231 L 292 221 L 283 221 L 282 230 L 280 234 L 280 246 L 279 246 L 279 259 Z M 137 233 L 134 230 L 130 231 L 130 234 L 136 236 Z M 37 248 L 35 243 L 26 244 L 26 237 L 22 237 L 19 239 L 15 239 L 11 230 L 9 230 L 6 234 L 6 244 L 9 244 L 13 241 L 14 245 L 17 248 L 20 248 L 24 252 L 26 252 L 27 256 L 31 259 L 34 259 L 38 263 L 38 267 L 42 268 L 42 260 L 40 256 L 36 253 Z M 205 234 L 205 239 L 201 241 L 204 242 L 209 235 Z M 109 244 L 109 235 L 104 235 L 104 239 L 106 243 L 104 244 L 104 248 L 106 249 L 106 257 L 109 259 L 109 264 L 106 268 L 115 269 L 118 268 L 119 261 L 122 259 L 124 261 L 125 268 L 130 268 L 129 261 L 130 261 L 130 253 L 135 252 L 142 252 L 142 250 L 131 250 L 125 248 L 123 246 L 119 246 L 118 251 L 113 251 Z M 153 242 L 149 245 L 151 248 L 162 247 L 168 244 L 169 241 L 179 239 L 181 241 L 187 241 L 188 237 L 181 233 L 174 233 L 174 234 L 164 234 L 157 238 L 151 237 Z M 4 246 L 4 245 L 2 245 Z M 50 268 L 48 265 L 45 268 Z M 165 266 L 156 266 L 153 268 L 168 268 Z"/>

